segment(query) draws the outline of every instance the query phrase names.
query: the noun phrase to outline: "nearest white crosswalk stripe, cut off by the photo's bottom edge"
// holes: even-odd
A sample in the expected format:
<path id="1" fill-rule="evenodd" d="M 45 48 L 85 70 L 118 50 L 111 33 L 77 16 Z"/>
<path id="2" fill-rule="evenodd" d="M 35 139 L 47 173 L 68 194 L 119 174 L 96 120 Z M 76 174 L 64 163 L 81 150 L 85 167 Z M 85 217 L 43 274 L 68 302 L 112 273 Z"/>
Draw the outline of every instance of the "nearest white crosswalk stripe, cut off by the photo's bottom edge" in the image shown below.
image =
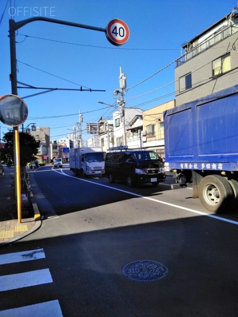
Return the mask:
<path id="1" fill-rule="evenodd" d="M 0 311 L 0 317 L 63 317 L 59 301 Z"/>

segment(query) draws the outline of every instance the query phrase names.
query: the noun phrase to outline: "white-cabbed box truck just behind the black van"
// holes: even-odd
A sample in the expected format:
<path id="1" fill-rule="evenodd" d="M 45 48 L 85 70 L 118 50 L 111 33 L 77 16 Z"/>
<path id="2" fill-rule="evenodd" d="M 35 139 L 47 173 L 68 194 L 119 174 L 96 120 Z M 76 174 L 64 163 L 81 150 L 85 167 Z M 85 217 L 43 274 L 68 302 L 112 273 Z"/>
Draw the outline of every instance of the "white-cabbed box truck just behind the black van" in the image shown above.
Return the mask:
<path id="1" fill-rule="evenodd" d="M 75 148 L 69 150 L 69 168 L 83 177 L 105 175 L 106 152 L 101 148 Z"/>

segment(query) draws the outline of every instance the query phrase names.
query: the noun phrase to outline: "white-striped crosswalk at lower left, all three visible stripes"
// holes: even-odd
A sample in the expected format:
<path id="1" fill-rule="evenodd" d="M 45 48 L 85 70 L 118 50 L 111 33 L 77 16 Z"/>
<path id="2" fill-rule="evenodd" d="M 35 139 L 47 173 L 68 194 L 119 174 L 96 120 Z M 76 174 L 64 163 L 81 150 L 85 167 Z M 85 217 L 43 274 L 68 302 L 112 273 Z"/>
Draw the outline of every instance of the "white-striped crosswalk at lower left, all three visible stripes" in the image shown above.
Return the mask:
<path id="1" fill-rule="evenodd" d="M 45 258 L 43 249 L 0 255 L 0 265 Z M 49 268 L 0 276 L 0 292 L 53 283 Z M 53 300 L 0 311 L 0 317 L 63 317 L 59 301 Z"/>

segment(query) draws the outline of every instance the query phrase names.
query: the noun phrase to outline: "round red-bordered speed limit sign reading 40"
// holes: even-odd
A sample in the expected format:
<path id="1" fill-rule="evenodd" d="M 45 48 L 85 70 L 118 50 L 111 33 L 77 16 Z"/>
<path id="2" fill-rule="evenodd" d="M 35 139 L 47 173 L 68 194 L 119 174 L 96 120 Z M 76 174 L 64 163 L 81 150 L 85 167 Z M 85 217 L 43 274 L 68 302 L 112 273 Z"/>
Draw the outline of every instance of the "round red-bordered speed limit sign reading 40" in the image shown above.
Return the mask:
<path id="1" fill-rule="evenodd" d="M 129 28 L 122 20 L 114 19 L 108 23 L 106 36 L 113 45 L 125 44 L 129 35 Z"/>

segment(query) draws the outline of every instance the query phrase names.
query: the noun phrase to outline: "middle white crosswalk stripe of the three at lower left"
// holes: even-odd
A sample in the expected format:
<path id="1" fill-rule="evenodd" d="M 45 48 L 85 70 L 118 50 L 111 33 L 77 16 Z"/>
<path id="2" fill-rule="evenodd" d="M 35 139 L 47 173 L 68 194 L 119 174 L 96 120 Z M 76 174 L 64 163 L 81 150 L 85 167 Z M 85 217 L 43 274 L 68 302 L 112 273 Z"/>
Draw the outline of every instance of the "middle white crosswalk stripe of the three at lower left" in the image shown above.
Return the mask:
<path id="1" fill-rule="evenodd" d="M 0 291 L 52 283 L 49 268 L 0 276 Z"/>

